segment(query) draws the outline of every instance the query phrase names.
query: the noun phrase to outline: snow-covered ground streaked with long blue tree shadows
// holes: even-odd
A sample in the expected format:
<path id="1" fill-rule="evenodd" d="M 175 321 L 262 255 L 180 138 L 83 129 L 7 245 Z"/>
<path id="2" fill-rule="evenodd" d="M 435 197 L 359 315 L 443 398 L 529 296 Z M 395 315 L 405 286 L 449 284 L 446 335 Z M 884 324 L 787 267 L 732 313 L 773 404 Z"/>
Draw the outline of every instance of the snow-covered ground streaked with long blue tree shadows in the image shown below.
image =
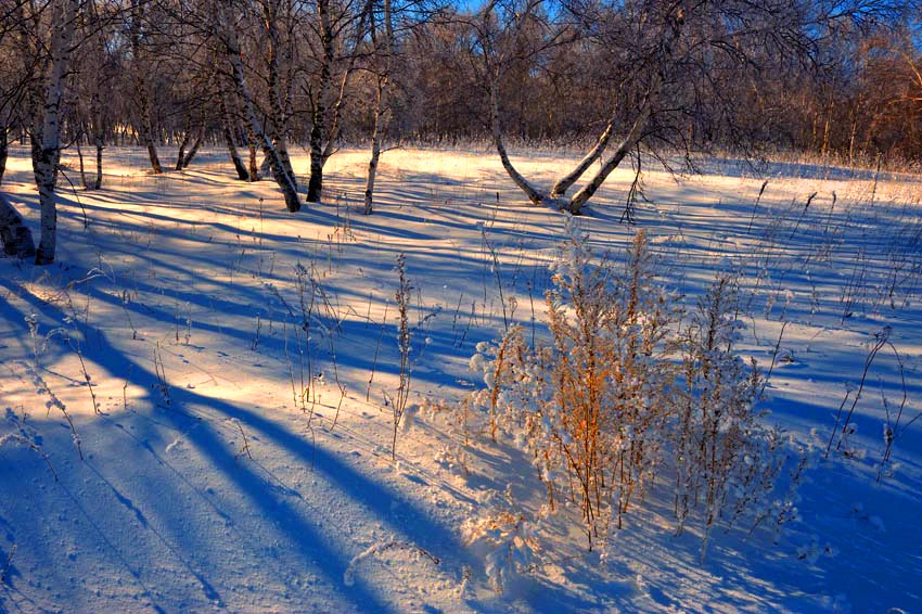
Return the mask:
<path id="1" fill-rule="evenodd" d="M 517 159 L 548 183 L 571 163 Z M 655 488 L 604 555 L 564 510 L 498 593 L 465 526 L 508 488 L 533 514 L 545 494 L 521 452 L 461 440 L 459 401 L 477 343 L 540 322 L 564 218 L 489 152 L 432 150 L 385 154 L 366 217 L 366 164 L 336 154 L 297 214 L 217 151 L 152 177 L 112 149 L 99 192 L 66 172 L 57 264 L 0 259 L 0 611 L 922 611 L 922 178 L 646 171 L 636 219 L 664 283 L 693 304 L 741 273 L 740 349 L 774 363 L 766 420 L 811 449 L 797 519 L 717 532 L 702 562 Z M 632 178 L 580 220 L 616 258 Z M 37 235 L 30 180 L 15 150 L 0 189 Z M 399 254 L 423 410 L 393 461 Z"/>

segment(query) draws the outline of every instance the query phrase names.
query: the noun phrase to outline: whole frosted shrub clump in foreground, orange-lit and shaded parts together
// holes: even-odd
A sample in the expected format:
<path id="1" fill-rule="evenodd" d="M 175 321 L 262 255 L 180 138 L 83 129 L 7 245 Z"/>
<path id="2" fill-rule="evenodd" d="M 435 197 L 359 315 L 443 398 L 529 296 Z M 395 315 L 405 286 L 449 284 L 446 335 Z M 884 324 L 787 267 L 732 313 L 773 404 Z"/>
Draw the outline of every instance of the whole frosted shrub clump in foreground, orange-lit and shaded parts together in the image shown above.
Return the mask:
<path id="1" fill-rule="evenodd" d="M 673 484 L 679 529 L 701 519 L 704 547 L 718 523 L 780 510 L 767 499 L 785 442 L 759 421 L 761 380 L 734 353 L 733 280 L 718 277 L 682 325 L 643 231 L 624 268 L 594 260 L 575 222 L 567 232 L 546 296 L 548 341 L 533 347 L 512 327 L 479 344 L 471 368 L 486 387 L 465 411 L 528 453 L 550 510 L 580 510 L 590 550 L 657 475 Z"/>

